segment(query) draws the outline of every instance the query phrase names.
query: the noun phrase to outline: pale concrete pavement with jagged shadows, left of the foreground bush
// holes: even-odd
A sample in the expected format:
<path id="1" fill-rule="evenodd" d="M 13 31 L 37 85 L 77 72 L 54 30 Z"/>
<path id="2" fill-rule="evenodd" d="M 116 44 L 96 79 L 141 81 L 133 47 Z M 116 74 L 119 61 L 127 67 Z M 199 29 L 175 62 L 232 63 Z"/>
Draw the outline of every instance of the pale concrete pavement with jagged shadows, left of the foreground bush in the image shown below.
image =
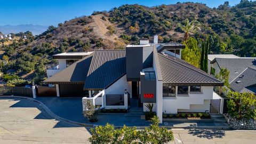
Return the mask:
<path id="1" fill-rule="evenodd" d="M 55 121 L 38 103 L 0 98 L 0 143 L 88 143 L 85 127 Z"/>

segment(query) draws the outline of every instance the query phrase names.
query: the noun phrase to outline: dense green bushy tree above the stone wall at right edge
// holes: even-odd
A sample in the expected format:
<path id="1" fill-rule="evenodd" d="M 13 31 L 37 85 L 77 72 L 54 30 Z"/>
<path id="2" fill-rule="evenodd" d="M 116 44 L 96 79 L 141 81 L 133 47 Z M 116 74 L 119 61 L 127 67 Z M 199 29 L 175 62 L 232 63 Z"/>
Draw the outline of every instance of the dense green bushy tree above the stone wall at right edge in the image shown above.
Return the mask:
<path id="1" fill-rule="evenodd" d="M 228 114 L 237 119 L 256 118 L 256 99 L 252 93 L 228 92 Z"/>

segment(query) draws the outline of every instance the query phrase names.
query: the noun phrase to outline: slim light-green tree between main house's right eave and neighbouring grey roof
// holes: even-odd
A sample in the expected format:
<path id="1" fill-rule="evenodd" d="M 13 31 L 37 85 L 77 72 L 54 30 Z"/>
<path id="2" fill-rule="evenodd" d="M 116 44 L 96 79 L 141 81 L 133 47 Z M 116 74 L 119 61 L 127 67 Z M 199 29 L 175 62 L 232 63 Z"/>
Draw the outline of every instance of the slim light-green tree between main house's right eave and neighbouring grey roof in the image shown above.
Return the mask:
<path id="1" fill-rule="evenodd" d="M 224 83 L 226 87 L 224 87 L 224 91 L 227 93 L 228 89 L 230 88 L 228 78 L 229 78 L 229 73 L 230 71 L 227 68 L 220 68 L 220 73 L 216 75 L 216 78 L 218 78 L 220 81 Z M 219 94 L 221 95 L 221 89 L 222 87 L 220 86 Z"/>

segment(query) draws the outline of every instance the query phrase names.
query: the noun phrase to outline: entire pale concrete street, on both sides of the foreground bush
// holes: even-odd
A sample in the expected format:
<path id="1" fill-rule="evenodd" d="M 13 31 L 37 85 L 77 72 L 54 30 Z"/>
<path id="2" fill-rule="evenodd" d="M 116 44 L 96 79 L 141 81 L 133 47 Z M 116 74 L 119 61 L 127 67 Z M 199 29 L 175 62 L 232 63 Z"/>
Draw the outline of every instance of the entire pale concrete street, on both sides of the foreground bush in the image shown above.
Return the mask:
<path id="1" fill-rule="evenodd" d="M 256 131 L 172 130 L 170 143 L 255 143 Z M 88 143 L 85 127 L 59 122 L 38 103 L 0 98 L 0 143 Z"/>

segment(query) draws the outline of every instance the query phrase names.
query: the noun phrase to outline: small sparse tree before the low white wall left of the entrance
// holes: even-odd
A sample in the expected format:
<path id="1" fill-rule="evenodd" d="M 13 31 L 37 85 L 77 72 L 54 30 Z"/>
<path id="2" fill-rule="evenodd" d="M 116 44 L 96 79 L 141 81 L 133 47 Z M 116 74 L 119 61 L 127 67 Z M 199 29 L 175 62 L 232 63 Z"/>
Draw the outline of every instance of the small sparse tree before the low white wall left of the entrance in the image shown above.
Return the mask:
<path id="1" fill-rule="evenodd" d="M 87 117 L 90 120 L 90 122 L 97 122 L 99 106 L 93 106 L 90 100 L 85 101 L 84 105 L 87 107 L 87 110 L 83 112 L 84 116 Z"/>

